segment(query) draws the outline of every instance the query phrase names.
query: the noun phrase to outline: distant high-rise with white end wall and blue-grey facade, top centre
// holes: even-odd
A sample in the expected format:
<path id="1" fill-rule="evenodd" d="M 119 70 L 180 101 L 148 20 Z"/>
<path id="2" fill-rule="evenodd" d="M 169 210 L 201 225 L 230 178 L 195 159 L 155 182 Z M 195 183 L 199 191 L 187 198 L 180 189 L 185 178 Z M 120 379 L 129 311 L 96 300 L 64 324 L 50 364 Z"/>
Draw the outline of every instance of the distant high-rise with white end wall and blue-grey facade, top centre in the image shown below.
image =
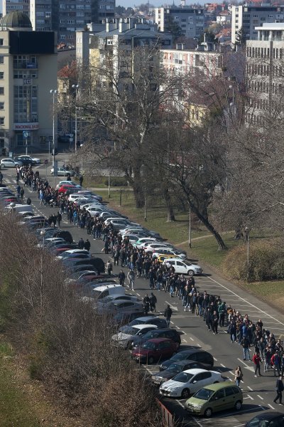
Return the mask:
<path id="1" fill-rule="evenodd" d="M 156 8 L 155 23 L 159 31 L 170 31 L 171 26 L 178 25 L 185 37 L 200 37 L 204 33 L 204 9 L 175 6 Z"/>

